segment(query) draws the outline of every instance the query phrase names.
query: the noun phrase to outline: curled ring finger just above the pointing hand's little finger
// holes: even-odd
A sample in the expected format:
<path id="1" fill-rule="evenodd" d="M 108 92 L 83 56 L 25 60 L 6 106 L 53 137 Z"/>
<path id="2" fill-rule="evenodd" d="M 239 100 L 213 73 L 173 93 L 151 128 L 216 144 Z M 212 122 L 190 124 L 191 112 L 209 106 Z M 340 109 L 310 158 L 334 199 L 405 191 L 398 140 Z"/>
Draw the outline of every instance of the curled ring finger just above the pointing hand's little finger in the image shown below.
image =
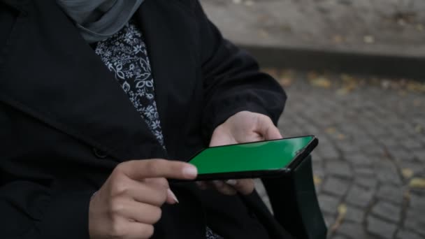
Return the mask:
<path id="1" fill-rule="evenodd" d="M 161 208 L 132 200 L 115 201 L 111 205 L 113 215 L 130 219 L 131 222 L 154 224 L 161 218 Z"/>

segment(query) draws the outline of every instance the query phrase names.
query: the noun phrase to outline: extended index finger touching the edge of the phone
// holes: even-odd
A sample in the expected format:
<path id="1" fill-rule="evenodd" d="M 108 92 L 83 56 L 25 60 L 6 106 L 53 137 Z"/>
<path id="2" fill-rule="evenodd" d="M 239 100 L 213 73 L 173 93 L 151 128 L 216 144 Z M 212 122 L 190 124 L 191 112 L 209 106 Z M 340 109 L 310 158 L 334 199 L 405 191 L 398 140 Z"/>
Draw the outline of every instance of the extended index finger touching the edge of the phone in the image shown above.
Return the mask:
<path id="1" fill-rule="evenodd" d="M 192 180 L 198 174 L 196 167 L 192 164 L 166 159 L 127 161 L 117 166 L 115 170 L 134 180 L 144 180 L 145 178 Z"/>

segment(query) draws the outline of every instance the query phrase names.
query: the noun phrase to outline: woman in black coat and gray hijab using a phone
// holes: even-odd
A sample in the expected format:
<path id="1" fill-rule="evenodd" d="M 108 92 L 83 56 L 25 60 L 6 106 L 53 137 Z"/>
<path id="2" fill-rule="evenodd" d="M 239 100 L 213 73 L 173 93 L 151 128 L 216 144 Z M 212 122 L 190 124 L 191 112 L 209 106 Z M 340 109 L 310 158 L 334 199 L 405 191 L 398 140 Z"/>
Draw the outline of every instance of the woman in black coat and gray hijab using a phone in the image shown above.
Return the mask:
<path id="1" fill-rule="evenodd" d="M 0 30 L 1 238 L 287 236 L 252 180 L 166 180 L 281 137 L 282 89 L 197 0 L 0 0 Z"/>

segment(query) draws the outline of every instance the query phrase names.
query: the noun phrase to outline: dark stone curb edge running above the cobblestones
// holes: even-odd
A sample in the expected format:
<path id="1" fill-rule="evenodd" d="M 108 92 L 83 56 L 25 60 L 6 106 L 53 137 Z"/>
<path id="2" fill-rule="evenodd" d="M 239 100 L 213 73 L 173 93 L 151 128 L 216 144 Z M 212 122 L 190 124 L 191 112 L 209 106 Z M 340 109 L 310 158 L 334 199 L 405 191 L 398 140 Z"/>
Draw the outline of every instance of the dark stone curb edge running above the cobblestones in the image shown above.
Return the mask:
<path id="1" fill-rule="evenodd" d="M 300 70 L 329 70 L 389 78 L 425 80 L 425 56 L 401 57 L 357 52 L 273 48 L 257 45 L 238 45 L 253 55 L 262 67 L 284 67 Z"/>

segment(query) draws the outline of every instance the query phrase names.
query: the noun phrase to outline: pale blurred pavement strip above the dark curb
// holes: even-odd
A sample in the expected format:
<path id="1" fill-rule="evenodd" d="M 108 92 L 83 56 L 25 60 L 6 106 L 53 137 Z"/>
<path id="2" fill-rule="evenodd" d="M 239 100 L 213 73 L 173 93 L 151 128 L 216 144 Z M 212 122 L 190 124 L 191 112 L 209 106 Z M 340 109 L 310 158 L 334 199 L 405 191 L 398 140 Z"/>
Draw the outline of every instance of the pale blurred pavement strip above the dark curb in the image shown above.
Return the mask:
<path id="1" fill-rule="evenodd" d="M 424 0 L 201 0 L 224 36 L 251 46 L 425 55 Z"/>

